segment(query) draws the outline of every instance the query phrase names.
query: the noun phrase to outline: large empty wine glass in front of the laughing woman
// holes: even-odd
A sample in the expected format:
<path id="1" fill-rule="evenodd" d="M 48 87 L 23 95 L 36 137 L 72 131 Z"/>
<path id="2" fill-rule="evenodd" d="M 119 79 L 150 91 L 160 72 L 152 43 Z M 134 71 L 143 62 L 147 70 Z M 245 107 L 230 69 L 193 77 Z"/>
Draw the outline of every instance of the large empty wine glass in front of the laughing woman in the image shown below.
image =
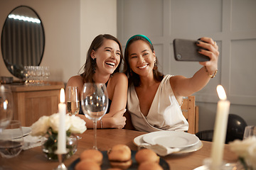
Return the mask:
<path id="1" fill-rule="evenodd" d="M 95 133 L 93 149 L 97 149 L 97 121 L 106 114 L 108 100 L 105 84 L 84 84 L 81 94 L 81 106 L 86 118 L 93 122 L 93 130 Z"/>

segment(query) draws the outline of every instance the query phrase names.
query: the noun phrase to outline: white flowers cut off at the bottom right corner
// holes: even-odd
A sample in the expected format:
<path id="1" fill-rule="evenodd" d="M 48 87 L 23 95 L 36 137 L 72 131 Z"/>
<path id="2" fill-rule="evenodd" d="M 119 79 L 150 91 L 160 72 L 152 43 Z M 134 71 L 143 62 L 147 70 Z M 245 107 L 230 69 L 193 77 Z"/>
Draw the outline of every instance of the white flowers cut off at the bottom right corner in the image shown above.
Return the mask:
<path id="1" fill-rule="evenodd" d="M 229 143 L 230 150 L 238 154 L 240 163 L 245 170 L 256 170 L 256 137 L 235 140 Z"/>

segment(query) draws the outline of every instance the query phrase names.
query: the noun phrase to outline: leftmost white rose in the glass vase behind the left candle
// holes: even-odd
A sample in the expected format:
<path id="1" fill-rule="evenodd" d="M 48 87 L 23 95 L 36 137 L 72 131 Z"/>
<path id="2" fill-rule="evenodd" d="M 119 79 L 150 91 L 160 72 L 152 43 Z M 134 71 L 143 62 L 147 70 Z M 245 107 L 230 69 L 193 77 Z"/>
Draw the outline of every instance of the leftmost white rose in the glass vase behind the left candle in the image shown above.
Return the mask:
<path id="1" fill-rule="evenodd" d="M 45 135 L 49 126 L 49 117 L 46 115 L 43 115 L 43 117 L 39 118 L 36 123 L 33 123 L 31 125 L 31 135 L 32 136 L 41 136 Z"/>

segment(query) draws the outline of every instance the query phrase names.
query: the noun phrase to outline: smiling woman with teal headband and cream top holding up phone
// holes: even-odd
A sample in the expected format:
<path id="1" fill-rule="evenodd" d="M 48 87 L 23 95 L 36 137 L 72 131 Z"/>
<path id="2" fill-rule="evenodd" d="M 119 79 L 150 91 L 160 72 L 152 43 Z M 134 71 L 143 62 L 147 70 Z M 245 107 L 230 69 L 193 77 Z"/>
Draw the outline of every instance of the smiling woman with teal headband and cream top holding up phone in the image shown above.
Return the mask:
<path id="1" fill-rule="evenodd" d="M 151 40 L 145 35 L 129 38 L 124 51 L 124 73 L 128 77 L 127 111 L 136 130 L 188 130 L 181 112 L 183 96 L 203 89 L 218 68 L 218 45 L 211 38 L 200 38 L 197 45 L 210 57 L 193 77 L 162 74 Z M 127 127 L 130 128 L 129 122 Z"/>

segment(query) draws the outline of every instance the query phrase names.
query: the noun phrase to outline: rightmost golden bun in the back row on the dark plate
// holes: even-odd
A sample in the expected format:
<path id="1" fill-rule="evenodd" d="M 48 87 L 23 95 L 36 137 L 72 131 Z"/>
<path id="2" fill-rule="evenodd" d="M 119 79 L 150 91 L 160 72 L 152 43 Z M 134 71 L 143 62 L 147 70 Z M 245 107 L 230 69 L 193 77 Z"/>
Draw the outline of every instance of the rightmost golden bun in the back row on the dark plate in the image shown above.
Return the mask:
<path id="1" fill-rule="evenodd" d="M 156 162 L 159 164 L 159 156 L 152 151 L 151 149 L 140 149 L 136 154 L 135 154 L 135 159 L 138 164 L 141 164 L 142 162 Z"/>

